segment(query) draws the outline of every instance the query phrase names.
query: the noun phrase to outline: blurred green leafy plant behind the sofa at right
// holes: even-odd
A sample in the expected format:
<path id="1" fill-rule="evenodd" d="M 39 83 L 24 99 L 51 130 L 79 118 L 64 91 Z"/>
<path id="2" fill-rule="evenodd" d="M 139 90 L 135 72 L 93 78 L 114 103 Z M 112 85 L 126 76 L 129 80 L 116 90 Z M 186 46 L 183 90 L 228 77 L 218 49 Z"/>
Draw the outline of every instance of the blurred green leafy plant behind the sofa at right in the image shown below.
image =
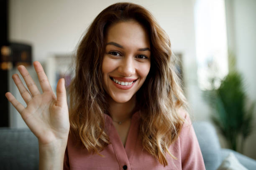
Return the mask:
<path id="1" fill-rule="evenodd" d="M 212 79 L 212 85 L 214 82 Z M 241 74 L 233 67 L 221 80 L 220 87 L 212 86 L 203 96 L 212 108 L 212 121 L 230 148 L 243 153 L 244 141 L 253 129 L 254 103 L 248 104 Z"/>

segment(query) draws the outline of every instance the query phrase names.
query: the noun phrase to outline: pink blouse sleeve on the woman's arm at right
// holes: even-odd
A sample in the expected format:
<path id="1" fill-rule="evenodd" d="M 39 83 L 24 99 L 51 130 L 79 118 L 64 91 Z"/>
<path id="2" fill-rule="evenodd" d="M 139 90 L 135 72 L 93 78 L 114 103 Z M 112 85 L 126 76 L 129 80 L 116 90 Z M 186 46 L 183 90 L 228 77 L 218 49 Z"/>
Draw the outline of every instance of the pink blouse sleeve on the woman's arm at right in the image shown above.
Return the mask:
<path id="1" fill-rule="evenodd" d="M 179 136 L 182 170 L 205 170 L 204 160 L 192 122 L 187 113 L 182 115 L 186 120 Z"/>

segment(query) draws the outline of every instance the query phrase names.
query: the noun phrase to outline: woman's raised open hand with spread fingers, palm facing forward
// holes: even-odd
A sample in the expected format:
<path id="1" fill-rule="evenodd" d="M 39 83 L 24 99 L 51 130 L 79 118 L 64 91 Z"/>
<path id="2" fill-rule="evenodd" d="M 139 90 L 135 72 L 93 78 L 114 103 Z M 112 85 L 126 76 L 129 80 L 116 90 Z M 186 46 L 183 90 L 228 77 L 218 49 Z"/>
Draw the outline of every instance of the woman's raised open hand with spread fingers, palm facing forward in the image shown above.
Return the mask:
<path id="1" fill-rule="evenodd" d="M 23 85 L 17 74 L 13 80 L 20 91 L 27 107 L 24 107 L 15 97 L 7 92 L 5 96 L 18 110 L 30 130 L 38 138 L 41 145 L 48 145 L 56 141 L 67 141 L 69 133 L 69 114 L 64 79 L 60 79 L 56 87 L 56 95 L 39 62 L 33 63 L 43 93 L 41 94 L 35 82 L 24 66 L 18 70 L 26 82 L 28 89 Z"/>

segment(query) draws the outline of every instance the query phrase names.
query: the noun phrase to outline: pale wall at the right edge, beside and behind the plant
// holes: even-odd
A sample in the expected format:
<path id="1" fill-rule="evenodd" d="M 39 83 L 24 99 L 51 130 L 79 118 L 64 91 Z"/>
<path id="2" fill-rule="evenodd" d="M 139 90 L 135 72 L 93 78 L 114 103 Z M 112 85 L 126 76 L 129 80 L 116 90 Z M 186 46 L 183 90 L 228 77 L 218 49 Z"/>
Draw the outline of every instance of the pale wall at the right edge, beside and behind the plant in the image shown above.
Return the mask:
<path id="1" fill-rule="evenodd" d="M 228 45 L 236 56 L 250 101 L 256 102 L 256 0 L 226 0 Z M 256 159 L 256 109 L 253 134 L 245 145 L 245 155 Z"/>

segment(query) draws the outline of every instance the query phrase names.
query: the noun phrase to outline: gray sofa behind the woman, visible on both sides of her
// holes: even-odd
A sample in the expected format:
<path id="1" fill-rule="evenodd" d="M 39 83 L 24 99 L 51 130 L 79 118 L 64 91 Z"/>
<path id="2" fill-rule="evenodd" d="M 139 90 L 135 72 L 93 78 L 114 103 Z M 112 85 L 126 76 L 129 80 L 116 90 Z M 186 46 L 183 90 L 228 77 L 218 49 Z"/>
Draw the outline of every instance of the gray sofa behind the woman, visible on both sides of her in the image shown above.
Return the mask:
<path id="1" fill-rule="evenodd" d="M 214 127 L 208 122 L 194 122 L 193 126 L 202 150 L 207 170 L 216 170 L 222 160 L 233 152 L 249 170 L 256 170 L 256 160 L 221 149 Z M 0 170 L 37 170 L 38 140 L 28 129 L 0 128 Z"/>

